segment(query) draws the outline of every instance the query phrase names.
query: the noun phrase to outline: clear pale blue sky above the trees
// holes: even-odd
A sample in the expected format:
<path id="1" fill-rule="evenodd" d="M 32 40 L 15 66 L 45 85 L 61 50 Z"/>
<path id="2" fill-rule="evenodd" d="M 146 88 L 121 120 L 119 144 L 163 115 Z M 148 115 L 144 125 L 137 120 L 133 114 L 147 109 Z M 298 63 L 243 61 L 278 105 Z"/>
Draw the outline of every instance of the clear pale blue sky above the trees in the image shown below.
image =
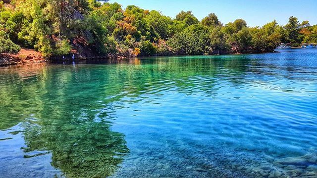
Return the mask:
<path id="1" fill-rule="evenodd" d="M 123 8 L 133 4 L 172 18 L 181 10 L 191 10 L 199 20 L 213 12 L 223 24 L 242 18 L 250 27 L 263 26 L 274 19 L 285 25 L 290 16 L 317 24 L 317 0 L 110 0 L 115 1 Z"/>

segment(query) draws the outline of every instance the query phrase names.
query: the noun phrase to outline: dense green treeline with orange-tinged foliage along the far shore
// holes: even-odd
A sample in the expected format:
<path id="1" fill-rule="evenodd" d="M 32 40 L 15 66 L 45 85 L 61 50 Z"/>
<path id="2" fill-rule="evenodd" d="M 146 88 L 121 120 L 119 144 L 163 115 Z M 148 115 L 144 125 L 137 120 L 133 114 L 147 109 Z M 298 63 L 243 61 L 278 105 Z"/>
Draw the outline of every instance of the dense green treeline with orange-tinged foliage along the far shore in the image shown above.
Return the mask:
<path id="1" fill-rule="evenodd" d="M 0 2 L 0 52 L 34 48 L 45 56 L 194 55 L 269 52 L 280 43 L 317 43 L 317 25 L 290 17 L 248 27 L 222 24 L 211 13 L 199 21 L 191 11 L 176 18 L 134 5 L 97 0 L 5 0 Z"/>

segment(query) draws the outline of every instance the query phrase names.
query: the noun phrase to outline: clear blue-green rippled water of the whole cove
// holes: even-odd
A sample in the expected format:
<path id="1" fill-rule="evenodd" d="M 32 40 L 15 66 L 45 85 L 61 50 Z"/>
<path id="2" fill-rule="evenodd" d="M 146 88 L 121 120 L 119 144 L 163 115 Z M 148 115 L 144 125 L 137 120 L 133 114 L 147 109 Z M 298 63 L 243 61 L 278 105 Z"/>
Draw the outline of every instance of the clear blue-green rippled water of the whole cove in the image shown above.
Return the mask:
<path id="1" fill-rule="evenodd" d="M 3 178 L 317 178 L 317 49 L 11 66 L 0 101 Z"/>

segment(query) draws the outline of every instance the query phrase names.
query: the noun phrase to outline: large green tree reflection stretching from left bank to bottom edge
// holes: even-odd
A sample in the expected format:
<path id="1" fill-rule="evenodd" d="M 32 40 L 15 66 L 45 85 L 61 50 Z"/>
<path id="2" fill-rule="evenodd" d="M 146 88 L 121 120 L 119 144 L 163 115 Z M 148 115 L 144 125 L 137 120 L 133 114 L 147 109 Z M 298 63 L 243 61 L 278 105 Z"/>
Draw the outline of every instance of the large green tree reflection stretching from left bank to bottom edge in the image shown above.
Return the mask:
<path id="1" fill-rule="evenodd" d="M 61 73 L 55 73 L 56 70 Z M 62 70 L 58 66 L 42 64 L 3 69 L 10 75 L 1 73 L 6 79 L 4 82 L 1 78 L 0 89 L 3 101 L 0 107 L 1 141 L 18 139 L 18 135 L 14 135 L 22 133 L 24 159 L 51 154 L 52 166 L 66 177 L 109 176 L 129 153 L 125 135 L 111 131 L 107 114 L 100 111 L 108 101 L 96 103 L 100 97 L 98 88 L 88 91 L 81 87 L 72 88 L 78 81 L 90 80 L 87 79 L 88 71 L 82 74 L 77 69 Z M 10 167 L 7 161 L 0 159 L 1 165 Z M 23 174 L 17 177 L 23 176 L 31 177 Z"/>

